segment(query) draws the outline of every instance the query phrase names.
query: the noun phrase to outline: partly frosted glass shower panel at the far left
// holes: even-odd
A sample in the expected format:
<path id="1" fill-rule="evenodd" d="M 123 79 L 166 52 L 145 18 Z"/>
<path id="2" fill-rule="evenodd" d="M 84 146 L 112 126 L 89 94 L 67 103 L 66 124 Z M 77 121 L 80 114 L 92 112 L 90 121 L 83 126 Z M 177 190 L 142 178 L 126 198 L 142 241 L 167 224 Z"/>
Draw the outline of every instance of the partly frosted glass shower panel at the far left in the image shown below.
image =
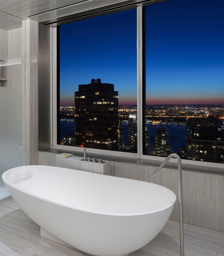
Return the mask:
<path id="1" fill-rule="evenodd" d="M 25 164 L 24 95 L 25 20 L 0 12 L 0 175 Z"/>

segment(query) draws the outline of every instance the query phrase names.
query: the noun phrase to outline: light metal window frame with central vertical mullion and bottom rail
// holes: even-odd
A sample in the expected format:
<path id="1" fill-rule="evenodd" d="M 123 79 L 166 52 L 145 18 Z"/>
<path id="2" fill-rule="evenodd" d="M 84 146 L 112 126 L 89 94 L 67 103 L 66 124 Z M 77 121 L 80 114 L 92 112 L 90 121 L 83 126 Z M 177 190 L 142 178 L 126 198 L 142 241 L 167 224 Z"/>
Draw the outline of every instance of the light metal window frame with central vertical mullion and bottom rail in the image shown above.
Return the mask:
<path id="1" fill-rule="evenodd" d="M 165 0 L 167 1 L 167 0 Z M 150 156 L 144 155 L 144 130 L 145 130 L 145 111 L 144 111 L 144 102 L 145 102 L 145 74 L 143 73 L 144 69 L 144 57 L 143 54 L 145 53 L 144 49 L 144 6 L 140 7 L 133 7 L 136 8 L 137 11 L 137 116 L 138 116 L 138 125 L 137 125 L 137 132 L 138 132 L 138 152 L 131 153 L 131 152 L 123 152 L 123 151 L 112 151 L 112 150 L 103 150 L 103 149 L 94 149 L 88 148 L 89 153 L 94 153 L 97 157 L 103 155 L 105 156 L 112 156 L 116 159 L 116 156 L 123 157 L 124 162 L 128 162 L 127 159 L 133 158 L 142 159 L 142 160 L 152 160 L 154 163 L 155 161 L 160 164 L 162 161 L 166 159 L 166 157 L 162 156 Z M 130 8 L 129 8 L 130 9 Z M 57 144 L 57 27 L 51 27 L 51 148 L 65 150 L 73 152 L 74 154 L 80 155 L 83 152 L 83 148 L 74 147 L 74 146 L 65 146 L 65 145 L 58 145 Z M 101 158 L 101 157 L 100 157 Z M 108 157 L 109 158 L 109 157 Z M 182 164 L 187 164 L 190 169 L 192 167 L 197 171 L 197 166 L 208 166 L 208 167 L 215 167 L 215 168 L 223 168 L 224 165 L 221 163 L 214 163 L 214 162 L 203 162 L 203 161 L 196 161 L 196 160 L 188 160 L 188 159 L 181 159 Z M 176 163 L 176 159 L 170 159 L 170 162 Z M 201 172 L 201 171 L 200 171 Z"/>

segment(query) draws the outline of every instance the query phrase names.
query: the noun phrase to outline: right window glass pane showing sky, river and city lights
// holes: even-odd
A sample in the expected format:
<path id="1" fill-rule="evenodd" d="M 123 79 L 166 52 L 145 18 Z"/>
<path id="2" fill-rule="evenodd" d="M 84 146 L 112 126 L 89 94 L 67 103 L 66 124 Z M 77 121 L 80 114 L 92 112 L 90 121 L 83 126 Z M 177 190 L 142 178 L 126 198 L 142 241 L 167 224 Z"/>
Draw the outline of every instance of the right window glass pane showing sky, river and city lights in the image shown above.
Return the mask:
<path id="1" fill-rule="evenodd" d="M 149 155 L 224 163 L 223 13 L 222 0 L 146 7 Z"/>

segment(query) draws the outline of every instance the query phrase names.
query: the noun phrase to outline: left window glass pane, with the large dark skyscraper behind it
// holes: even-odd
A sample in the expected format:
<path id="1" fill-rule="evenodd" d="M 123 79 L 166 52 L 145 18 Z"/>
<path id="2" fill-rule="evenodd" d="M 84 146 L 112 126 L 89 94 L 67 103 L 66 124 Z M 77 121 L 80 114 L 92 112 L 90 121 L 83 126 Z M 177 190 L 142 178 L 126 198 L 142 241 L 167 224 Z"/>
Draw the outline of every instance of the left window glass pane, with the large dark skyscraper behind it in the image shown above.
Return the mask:
<path id="1" fill-rule="evenodd" d="M 137 152 L 136 9 L 60 25 L 60 144 Z"/>

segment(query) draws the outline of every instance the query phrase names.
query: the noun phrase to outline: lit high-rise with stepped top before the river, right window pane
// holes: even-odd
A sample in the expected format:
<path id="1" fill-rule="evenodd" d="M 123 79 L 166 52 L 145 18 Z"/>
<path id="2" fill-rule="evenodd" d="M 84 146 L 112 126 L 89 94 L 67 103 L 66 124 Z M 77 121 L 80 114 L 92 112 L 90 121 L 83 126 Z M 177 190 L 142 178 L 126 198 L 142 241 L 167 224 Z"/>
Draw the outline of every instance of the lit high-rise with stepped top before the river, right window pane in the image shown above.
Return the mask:
<path id="1" fill-rule="evenodd" d="M 169 156 L 172 153 L 172 147 L 168 143 L 168 132 L 166 132 L 165 128 L 158 128 L 155 133 L 155 143 L 152 144 L 149 155 Z"/>

